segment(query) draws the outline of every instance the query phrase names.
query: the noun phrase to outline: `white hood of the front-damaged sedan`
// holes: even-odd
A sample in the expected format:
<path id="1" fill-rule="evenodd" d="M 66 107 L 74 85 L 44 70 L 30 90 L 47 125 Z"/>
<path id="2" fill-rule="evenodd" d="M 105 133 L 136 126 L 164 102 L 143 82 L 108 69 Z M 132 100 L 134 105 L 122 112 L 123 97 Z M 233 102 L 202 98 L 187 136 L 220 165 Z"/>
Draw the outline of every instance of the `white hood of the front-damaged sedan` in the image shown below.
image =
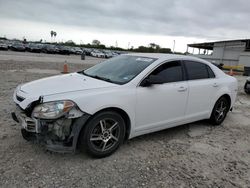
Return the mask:
<path id="1" fill-rule="evenodd" d="M 72 73 L 28 82 L 20 87 L 20 91 L 25 93 L 27 97 L 38 97 L 112 86 L 116 85 L 82 74 Z"/>

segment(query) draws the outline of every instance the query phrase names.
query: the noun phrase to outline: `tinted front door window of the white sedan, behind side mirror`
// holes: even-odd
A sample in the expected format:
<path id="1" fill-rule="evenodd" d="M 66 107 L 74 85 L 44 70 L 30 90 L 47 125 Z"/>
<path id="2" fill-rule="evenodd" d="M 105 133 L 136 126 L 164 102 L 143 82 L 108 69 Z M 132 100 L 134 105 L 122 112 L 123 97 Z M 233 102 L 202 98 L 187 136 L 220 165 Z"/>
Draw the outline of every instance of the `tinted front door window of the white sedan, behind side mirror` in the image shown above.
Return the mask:
<path id="1" fill-rule="evenodd" d="M 151 75 L 160 76 L 165 83 L 182 81 L 183 73 L 181 62 L 167 62 L 156 68 Z"/>

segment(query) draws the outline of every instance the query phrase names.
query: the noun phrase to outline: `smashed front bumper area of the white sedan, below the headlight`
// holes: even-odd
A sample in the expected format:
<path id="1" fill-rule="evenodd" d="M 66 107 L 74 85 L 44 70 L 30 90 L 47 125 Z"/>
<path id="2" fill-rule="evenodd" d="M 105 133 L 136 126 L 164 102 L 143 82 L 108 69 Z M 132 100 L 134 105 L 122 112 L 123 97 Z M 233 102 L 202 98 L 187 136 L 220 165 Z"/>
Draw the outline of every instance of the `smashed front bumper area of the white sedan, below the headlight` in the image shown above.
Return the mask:
<path id="1" fill-rule="evenodd" d="M 24 110 L 17 106 L 12 118 L 21 125 L 24 139 L 45 145 L 54 152 L 75 152 L 82 127 L 90 117 L 82 113 L 80 117 L 61 117 L 55 120 L 43 120 L 28 117 Z"/>

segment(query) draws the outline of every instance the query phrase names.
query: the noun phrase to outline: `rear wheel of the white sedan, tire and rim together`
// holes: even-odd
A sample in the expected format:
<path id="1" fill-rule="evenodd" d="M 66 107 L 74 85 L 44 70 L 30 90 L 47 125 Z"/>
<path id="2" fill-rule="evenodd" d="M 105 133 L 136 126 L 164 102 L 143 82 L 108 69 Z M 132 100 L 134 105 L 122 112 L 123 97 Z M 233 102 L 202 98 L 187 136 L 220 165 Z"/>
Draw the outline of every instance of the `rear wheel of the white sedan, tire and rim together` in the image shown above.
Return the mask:
<path id="1" fill-rule="evenodd" d="M 230 108 L 229 101 L 225 97 L 219 98 L 214 105 L 210 117 L 210 122 L 213 125 L 220 125 L 225 120 L 229 108 Z"/>

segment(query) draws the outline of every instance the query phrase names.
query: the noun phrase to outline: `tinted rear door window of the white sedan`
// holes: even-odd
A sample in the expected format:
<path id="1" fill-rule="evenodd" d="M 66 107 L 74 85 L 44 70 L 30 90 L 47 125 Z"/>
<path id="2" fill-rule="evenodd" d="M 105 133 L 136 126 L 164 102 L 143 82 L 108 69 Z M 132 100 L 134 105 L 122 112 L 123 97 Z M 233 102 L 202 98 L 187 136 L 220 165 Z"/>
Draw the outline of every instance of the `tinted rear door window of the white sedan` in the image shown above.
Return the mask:
<path id="1" fill-rule="evenodd" d="M 198 79 L 215 77 L 213 71 L 206 64 L 194 61 L 185 61 L 185 67 L 187 69 L 189 80 L 198 80 Z"/>

